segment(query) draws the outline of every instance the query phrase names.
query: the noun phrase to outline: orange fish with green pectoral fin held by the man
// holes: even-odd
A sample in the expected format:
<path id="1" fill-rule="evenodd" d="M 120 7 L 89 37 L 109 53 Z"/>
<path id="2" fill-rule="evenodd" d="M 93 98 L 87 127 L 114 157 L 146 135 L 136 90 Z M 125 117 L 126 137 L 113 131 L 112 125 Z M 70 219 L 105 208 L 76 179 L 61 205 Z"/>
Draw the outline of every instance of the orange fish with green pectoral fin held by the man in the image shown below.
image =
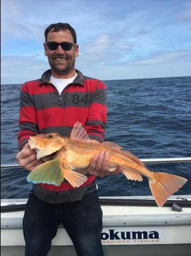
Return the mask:
<path id="1" fill-rule="evenodd" d="M 79 187 L 86 182 L 85 174 L 91 160 L 100 151 L 109 152 L 110 172 L 120 165 L 122 174 L 129 180 L 142 181 L 142 176 L 146 176 L 152 196 L 159 207 L 187 181 L 181 176 L 148 170 L 137 156 L 116 143 L 92 143 L 80 122 L 74 124 L 70 138 L 58 133 L 37 134 L 29 137 L 28 143 L 36 151 L 37 159 L 46 161 L 27 176 L 27 181 L 33 184 L 60 186 L 65 179 L 73 187 Z"/>

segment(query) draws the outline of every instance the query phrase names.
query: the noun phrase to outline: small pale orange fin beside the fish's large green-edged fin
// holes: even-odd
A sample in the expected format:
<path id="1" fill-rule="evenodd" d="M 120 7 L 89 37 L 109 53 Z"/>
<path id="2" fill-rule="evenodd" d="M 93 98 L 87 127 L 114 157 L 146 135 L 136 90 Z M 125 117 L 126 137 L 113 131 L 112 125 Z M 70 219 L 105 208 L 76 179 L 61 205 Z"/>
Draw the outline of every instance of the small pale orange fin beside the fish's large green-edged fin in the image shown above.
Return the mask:
<path id="1" fill-rule="evenodd" d="M 69 181 L 69 183 L 73 187 L 79 187 L 87 180 L 87 177 L 85 175 L 78 174 L 78 172 L 74 172 L 71 169 L 62 168 L 62 175 L 63 175 L 64 179 Z"/>

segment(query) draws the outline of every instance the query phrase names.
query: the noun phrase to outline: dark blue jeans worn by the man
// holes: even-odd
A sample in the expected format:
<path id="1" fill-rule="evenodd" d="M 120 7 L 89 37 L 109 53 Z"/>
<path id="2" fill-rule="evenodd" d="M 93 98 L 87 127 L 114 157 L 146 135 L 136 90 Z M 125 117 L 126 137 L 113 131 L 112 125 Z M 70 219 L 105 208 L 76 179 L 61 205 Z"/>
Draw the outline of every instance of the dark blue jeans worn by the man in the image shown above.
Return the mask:
<path id="1" fill-rule="evenodd" d="M 45 203 L 31 192 L 23 218 L 25 256 L 47 255 L 60 222 L 78 256 L 104 256 L 102 211 L 96 189 L 87 191 L 80 201 L 61 204 Z"/>

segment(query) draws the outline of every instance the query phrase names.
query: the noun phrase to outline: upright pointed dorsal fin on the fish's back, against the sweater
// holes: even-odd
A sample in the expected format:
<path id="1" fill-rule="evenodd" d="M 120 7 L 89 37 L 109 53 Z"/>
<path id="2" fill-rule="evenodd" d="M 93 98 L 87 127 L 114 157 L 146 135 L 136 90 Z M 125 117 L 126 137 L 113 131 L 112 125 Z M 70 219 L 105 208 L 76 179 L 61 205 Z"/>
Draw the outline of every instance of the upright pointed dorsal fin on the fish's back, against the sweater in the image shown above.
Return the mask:
<path id="1" fill-rule="evenodd" d="M 77 141 L 91 142 L 90 137 L 87 135 L 87 131 L 82 126 L 82 123 L 74 123 L 73 130 L 70 134 L 70 139 L 75 139 Z"/>

